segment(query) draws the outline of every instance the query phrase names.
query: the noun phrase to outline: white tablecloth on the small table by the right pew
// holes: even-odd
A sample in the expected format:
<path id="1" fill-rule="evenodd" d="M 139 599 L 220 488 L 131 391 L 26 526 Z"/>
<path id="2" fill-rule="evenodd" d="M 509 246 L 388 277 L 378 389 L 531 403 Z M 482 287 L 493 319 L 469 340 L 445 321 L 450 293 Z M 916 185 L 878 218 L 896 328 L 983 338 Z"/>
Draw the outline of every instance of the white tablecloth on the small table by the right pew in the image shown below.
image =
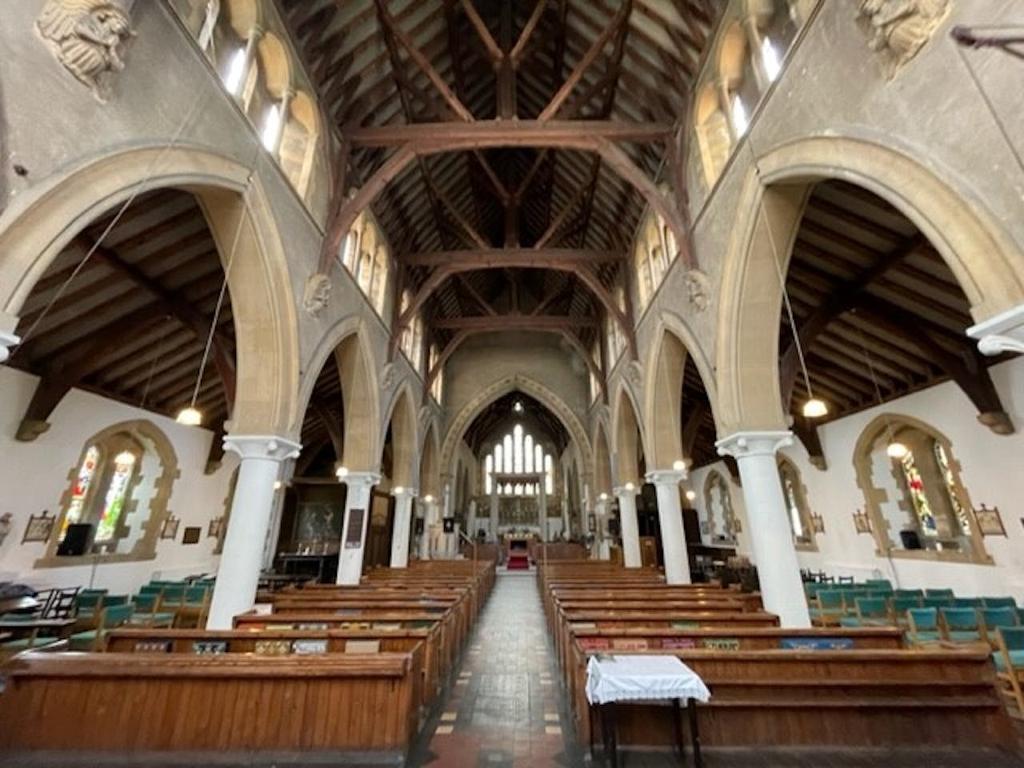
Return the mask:
<path id="1" fill-rule="evenodd" d="M 693 670 L 676 656 L 591 656 L 587 663 L 587 700 L 612 701 L 711 699 L 711 691 Z"/>

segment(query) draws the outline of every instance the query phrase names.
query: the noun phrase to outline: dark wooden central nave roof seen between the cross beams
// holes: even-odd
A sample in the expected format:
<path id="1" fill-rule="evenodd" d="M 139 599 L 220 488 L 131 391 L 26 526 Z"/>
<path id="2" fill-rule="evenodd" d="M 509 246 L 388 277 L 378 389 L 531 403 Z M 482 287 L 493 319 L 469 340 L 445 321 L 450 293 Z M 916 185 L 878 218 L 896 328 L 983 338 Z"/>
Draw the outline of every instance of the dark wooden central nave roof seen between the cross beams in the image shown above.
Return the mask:
<path id="1" fill-rule="evenodd" d="M 279 0 L 324 111 L 356 128 L 500 119 L 675 124 L 686 114 L 718 0 Z M 583 131 L 583 128 L 581 128 Z M 659 179 L 663 143 L 623 145 Z M 390 153 L 390 154 L 389 154 Z M 356 147 L 345 185 L 397 152 Z M 536 246 L 625 255 L 643 198 L 593 153 L 487 148 L 420 157 L 375 205 L 399 260 L 411 254 Z M 600 285 L 618 263 L 588 265 Z M 406 285 L 432 267 L 410 262 Z M 599 317 L 579 274 L 509 266 L 441 282 L 425 306 L 444 321 L 525 314 Z M 593 326 L 565 329 L 589 348 Z M 465 334 L 463 334 L 465 336 Z"/>

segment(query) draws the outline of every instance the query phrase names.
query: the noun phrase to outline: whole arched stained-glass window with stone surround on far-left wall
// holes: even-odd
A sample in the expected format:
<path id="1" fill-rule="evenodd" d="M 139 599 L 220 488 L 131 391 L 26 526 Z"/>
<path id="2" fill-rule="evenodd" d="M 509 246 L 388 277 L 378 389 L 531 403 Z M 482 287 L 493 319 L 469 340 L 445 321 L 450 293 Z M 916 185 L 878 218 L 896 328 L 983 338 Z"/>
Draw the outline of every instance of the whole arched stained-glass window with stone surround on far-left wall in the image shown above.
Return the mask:
<path id="1" fill-rule="evenodd" d="M 174 449 L 152 422 L 125 422 L 93 435 L 69 472 L 58 524 L 37 566 L 77 564 L 74 556 L 56 557 L 76 523 L 91 526 L 85 557 L 155 556 L 176 475 Z"/>

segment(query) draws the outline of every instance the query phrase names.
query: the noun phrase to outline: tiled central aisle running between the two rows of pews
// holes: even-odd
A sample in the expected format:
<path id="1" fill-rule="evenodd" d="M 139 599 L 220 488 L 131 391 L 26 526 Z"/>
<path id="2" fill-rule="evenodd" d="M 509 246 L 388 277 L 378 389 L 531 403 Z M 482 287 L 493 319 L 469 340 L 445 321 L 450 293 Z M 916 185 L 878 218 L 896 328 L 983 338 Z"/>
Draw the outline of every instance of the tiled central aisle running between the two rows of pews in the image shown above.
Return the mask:
<path id="1" fill-rule="evenodd" d="M 581 765 L 534 572 L 500 573 L 458 677 L 411 764 Z"/>

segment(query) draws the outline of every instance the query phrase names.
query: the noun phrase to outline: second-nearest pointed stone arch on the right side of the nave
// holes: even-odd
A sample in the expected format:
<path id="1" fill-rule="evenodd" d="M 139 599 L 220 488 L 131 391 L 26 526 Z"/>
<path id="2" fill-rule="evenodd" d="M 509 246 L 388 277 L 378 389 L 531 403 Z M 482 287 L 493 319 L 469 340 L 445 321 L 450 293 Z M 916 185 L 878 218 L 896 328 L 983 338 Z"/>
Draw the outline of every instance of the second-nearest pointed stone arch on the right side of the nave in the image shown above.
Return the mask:
<path id="1" fill-rule="evenodd" d="M 673 312 L 663 312 L 647 357 L 643 420 L 650 442 L 651 468 L 667 469 L 683 459 L 681 409 L 683 374 L 692 359 L 708 393 L 712 416 L 718 425 L 718 395 L 710 360 L 686 323 Z"/>

